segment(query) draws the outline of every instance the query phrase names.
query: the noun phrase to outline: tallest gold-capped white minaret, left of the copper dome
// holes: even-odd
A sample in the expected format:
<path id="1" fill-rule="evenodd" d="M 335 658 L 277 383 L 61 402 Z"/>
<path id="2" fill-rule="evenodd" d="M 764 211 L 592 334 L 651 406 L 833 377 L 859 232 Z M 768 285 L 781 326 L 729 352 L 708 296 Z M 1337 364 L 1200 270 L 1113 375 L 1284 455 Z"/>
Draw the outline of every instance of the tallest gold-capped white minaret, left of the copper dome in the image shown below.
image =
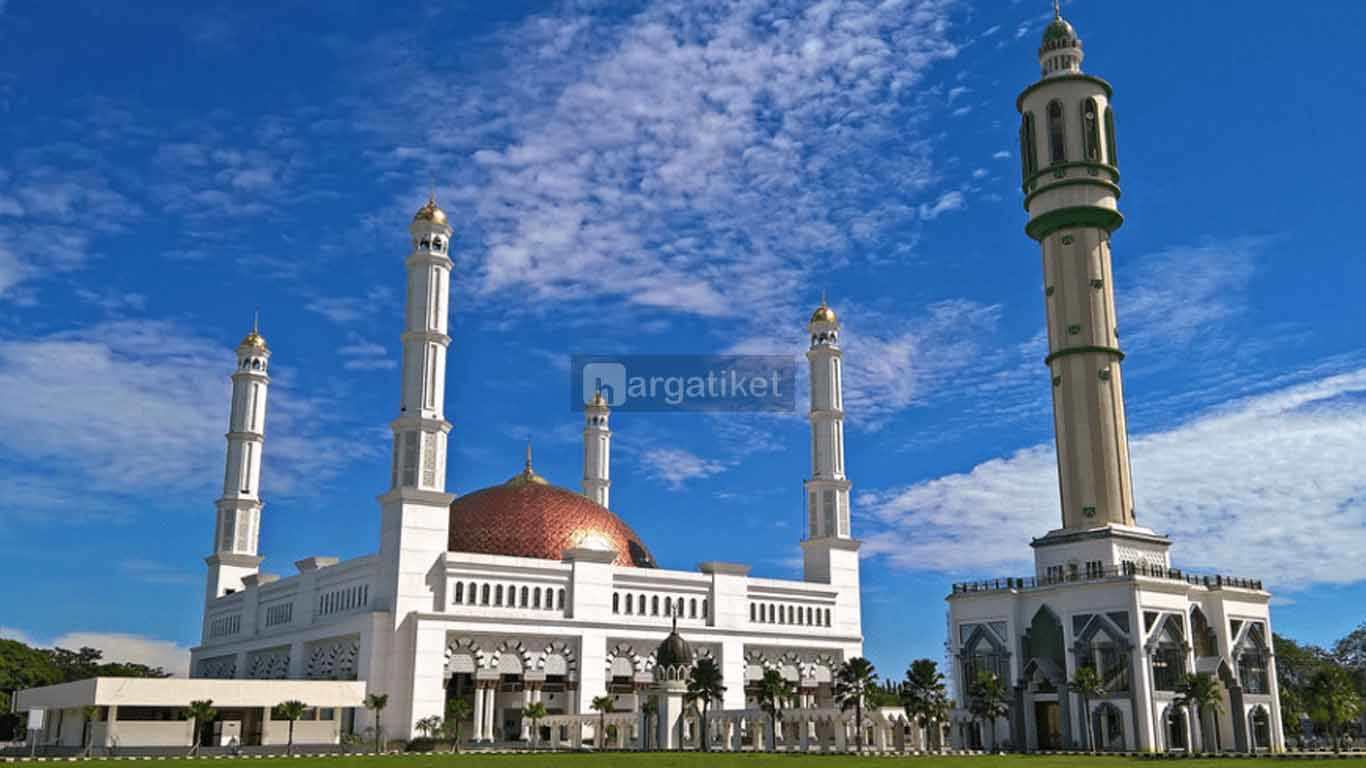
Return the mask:
<path id="1" fill-rule="evenodd" d="M 393 420 L 393 465 L 389 491 L 380 496 L 380 574 L 373 611 L 387 612 L 396 630 L 391 648 L 373 649 L 376 666 L 389 679 L 374 681 L 372 690 L 395 694 L 398 707 L 384 711 L 385 730 L 398 738 L 413 732 L 426 716 L 441 716 L 445 693 L 440 675 L 414 671 L 414 659 L 440 655 L 444 630 L 419 631 L 413 614 L 440 611 L 440 586 L 432 573 L 449 544 L 451 502 L 445 492 L 447 314 L 451 292 L 451 225 L 429 200 L 408 227 L 411 251 L 407 266 L 407 302 L 403 324 L 403 385 L 399 417 Z M 443 581 L 443 579 L 438 579 Z M 392 712 L 391 712 L 392 709 Z"/>

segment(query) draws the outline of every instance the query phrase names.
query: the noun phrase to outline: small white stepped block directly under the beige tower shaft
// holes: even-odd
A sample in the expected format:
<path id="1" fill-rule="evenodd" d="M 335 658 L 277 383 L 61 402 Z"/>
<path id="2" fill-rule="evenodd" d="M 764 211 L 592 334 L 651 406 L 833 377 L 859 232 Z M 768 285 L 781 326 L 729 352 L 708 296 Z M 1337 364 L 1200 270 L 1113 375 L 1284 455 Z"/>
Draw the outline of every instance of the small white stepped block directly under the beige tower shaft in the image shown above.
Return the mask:
<path id="1" fill-rule="evenodd" d="M 1152 529 L 1117 523 L 1060 527 L 1030 541 L 1040 578 L 1085 574 L 1097 567 L 1116 570 L 1126 564 L 1168 568 L 1171 545 L 1169 538 Z"/>

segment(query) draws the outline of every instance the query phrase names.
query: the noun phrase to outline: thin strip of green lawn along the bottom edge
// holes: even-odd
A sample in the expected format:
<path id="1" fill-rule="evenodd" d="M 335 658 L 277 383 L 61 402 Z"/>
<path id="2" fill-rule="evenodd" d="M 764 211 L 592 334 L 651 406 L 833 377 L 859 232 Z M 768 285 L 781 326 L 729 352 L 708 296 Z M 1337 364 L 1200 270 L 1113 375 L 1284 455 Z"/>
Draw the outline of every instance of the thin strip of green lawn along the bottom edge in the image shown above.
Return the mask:
<path id="1" fill-rule="evenodd" d="M 216 763 L 208 760 L 209 764 Z M 1315 761 L 1329 767 L 1366 768 L 1366 757 L 1350 760 Z M 206 768 L 202 760 L 157 760 L 156 768 Z M 232 764 L 231 761 L 228 764 Z M 843 768 L 852 765 L 908 765 L 912 768 L 1082 768 L 1085 765 L 1128 767 L 1146 765 L 1190 765 L 1191 768 L 1223 768 L 1242 765 L 1296 765 L 1299 761 L 1250 760 L 1250 758 L 1199 758 L 1182 761 L 1154 761 L 1132 757 L 1086 757 L 1086 756 L 984 756 L 984 757 L 855 757 L 824 754 L 731 754 L 731 753 L 542 753 L 542 754 L 404 754 L 391 757 L 295 757 L 295 758 L 253 758 L 246 761 L 250 768 L 712 768 L 736 765 L 740 768 Z M 219 763 L 223 765 L 223 763 Z M 89 761 L 82 768 L 128 768 L 127 761 Z M 245 767 L 245 768 L 246 768 Z"/>

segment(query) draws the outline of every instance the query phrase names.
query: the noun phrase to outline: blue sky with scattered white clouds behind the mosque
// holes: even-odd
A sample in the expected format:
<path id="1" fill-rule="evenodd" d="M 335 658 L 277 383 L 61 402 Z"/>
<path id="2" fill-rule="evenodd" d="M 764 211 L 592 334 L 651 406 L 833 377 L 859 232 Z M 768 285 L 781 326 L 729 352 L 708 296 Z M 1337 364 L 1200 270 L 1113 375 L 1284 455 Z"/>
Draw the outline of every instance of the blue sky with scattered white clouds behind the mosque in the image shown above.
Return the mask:
<path id="1" fill-rule="evenodd" d="M 1326 642 L 1366 603 L 1366 8 L 1064 5 L 1116 87 L 1138 518 Z M 1045 1 L 0 1 L 4 631 L 197 640 L 232 347 L 275 351 L 262 552 L 377 541 L 406 225 L 455 225 L 455 492 L 575 486 L 572 353 L 800 354 L 846 323 L 866 652 L 1057 519 L 1015 94 Z M 1287 23 L 1292 22 L 1292 23 Z M 1291 31 L 1292 30 L 1292 31 Z M 1306 44 L 1309 41 L 1310 44 Z M 798 574 L 805 422 L 619 414 L 667 567 Z M 18 577 L 18 578 L 15 578 Z"/>

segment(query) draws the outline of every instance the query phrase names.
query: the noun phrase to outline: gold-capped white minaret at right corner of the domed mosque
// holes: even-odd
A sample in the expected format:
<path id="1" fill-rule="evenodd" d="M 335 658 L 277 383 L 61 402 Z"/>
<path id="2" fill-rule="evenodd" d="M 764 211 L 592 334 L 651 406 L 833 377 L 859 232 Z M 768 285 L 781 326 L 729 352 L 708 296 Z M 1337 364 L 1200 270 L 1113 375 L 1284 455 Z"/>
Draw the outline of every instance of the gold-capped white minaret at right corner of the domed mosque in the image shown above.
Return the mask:
<path id="1" fill-rule="evenodd" d="M 840 588 L 836 626 L 858 631 L 858 548 L 850 526 L 850 481 L 844 476 L 844 391 L 840 321 L 821 299 L 806 325 L 811 373 L 811 478 L 806 488 L 806 581 Z"/>

